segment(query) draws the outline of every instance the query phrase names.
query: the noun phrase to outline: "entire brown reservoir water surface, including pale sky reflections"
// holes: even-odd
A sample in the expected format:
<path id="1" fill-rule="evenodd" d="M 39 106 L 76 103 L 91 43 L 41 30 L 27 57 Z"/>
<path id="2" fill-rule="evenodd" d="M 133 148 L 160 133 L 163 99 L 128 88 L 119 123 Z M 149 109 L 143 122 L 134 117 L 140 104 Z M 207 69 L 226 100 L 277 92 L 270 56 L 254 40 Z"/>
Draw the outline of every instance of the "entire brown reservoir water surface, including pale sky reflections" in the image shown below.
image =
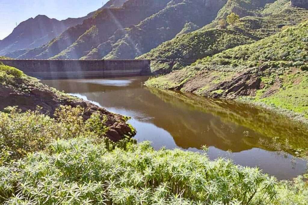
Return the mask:
<path id="1" fill-rule="evenodd" d="M 307 161 L 264 142 L 308 148 L 306 126 L 249 104 L 197 97 L 143 86 L 148 77 L 42 81 L 58 90 L 91 101 L 109 111 L 131 116 L 138 141 L 150 140 L 155 149 L 180 148 L 209 158 L 259 167 L 278 179 L 292 179 L 307 171 Z M 260 141 L 261 140 L 261 141 Z M 277 146 L 276 146 L 277 147 Z M 276 149 L 276 150 L 275 150 Z M 278 150 L 277 150 L 278 149 Z"/>

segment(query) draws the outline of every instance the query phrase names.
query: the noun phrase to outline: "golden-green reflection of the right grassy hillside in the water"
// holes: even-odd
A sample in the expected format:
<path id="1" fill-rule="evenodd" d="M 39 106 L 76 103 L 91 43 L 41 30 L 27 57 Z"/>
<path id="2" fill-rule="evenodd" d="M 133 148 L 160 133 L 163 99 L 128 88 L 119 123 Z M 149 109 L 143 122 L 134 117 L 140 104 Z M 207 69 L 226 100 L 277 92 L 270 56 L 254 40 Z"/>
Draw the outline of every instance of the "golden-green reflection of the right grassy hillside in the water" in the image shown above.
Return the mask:
<path id="1" fill-rule="evenodd" d="M 149 90 L 165 102 L 178 107 L 211 113 L 220 117 L 224 123 L 244 126 L 265 138 L 279 137 L 281 142 L 288 139 L 293 148 L 303 148 L 308 145 L 308 129 L 306 125 L 292 121 L 286 116 L 277 115 L 264 108 L 236 101 L 198 97 L 191 93 L 176 93 L 152 88 L 149 88 Z"/>

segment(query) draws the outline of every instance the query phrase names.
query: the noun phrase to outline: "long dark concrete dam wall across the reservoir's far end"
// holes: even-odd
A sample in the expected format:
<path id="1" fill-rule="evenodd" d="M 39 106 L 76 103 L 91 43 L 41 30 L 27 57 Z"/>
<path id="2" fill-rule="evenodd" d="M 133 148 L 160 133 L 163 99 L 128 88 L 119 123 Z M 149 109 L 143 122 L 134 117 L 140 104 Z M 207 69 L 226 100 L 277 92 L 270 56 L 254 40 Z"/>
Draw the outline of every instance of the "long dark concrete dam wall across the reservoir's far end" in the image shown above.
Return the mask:
<path id="1" fill-rule="evenodd" d="M 0 60 L 39 79 L 112 78 L 150 75 L 150 60 Z"/>

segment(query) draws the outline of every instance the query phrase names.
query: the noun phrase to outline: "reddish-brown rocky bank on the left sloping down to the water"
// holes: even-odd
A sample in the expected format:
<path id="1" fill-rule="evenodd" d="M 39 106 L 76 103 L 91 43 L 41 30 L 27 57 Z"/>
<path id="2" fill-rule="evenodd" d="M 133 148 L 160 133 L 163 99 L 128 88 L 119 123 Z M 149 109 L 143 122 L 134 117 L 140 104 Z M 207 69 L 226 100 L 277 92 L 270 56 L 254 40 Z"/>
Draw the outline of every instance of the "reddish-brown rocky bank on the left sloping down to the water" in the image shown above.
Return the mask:
<path id="1" fill-rule="evenodd" d="M 35 110 L 37 106 L 42 108 L 41 112 L 54 117 L 55 109 L 60 105 L 80 106 L 85 109 L 83 119 L 90 118 L 93 112 L 100 112 L 107 116 L 106 126 L 109 127 L 107 137 L 118 141 L 126 136 L 135 135 L 135 130 L 126 124 L 126 119 L 118 114 L 108 112 L 90 102 L 79 98 L 68 96 L 39 83 L 36 79 L 15 79 L 14 84 L 2 85 L 0 82 L 0 110 L 7 106 L 18 106 L 22 111 Z"/>

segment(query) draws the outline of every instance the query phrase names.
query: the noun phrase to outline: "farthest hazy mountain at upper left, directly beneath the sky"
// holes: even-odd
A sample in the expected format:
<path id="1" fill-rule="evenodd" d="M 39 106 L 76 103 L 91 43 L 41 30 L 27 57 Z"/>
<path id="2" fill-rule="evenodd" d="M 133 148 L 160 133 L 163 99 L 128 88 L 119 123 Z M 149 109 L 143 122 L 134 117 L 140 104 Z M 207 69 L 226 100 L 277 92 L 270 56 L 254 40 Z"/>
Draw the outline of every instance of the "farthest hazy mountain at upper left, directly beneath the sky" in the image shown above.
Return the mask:
<path id="1" fill-rule="evenodd" d="M 91 18 L 96 12 L 105 8 L 120 7 L 125 1 L 110 0 L 102 8 L 81 18 L 67 18 L 62 21 L 48 18 L 45 15 L 29 18 L 21 22 L 9 36 L 0 41 L 0 55 L 5 55 L 6 53 L 20 49 L 39 47 L 59 36 L 69 27 L 82 24 L 83 20 Z"/>

